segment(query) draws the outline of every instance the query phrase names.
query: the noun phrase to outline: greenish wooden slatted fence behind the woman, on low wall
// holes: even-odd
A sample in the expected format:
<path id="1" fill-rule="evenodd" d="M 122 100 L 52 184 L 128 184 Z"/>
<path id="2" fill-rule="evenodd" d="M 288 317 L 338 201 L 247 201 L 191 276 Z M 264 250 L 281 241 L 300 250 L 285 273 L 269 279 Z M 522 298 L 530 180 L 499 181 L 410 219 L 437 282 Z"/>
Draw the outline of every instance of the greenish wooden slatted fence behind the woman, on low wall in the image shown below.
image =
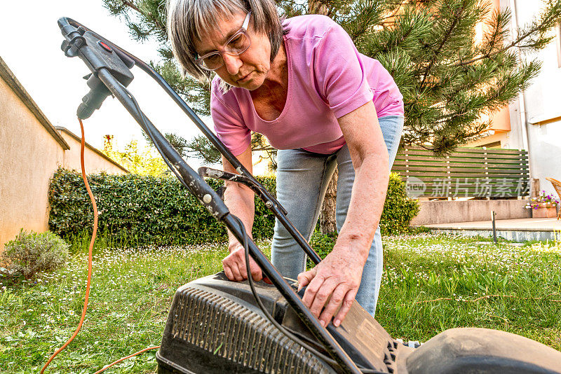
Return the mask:
<path id="1" fill-rule="evenodd" d="M 422 148 L 404 148 L 392 172 L 412 198 L 514 198 L 529 195 L 528 152 L 518 149 L 457 148 L 437 158 Z"/>

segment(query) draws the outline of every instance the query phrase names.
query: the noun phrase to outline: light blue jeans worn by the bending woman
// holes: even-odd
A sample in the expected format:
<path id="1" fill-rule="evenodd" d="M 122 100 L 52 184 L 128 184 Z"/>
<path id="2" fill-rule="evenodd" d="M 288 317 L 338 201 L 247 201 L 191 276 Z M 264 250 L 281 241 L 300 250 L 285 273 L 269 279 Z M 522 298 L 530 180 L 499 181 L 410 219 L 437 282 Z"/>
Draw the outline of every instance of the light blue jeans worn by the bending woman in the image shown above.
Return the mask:
<path id="1" fill-rule="evenodd" d="M 403 130 L 403 116 L 379 118 L 381 132 L 388 147 L 389 167 L 393 164 Z M 336 219 L 337 231 L 341 230 L 351 201 L 355 170 L 348 146 L 331 155 L 311 153 L 302 149 L 279 150 L 276 172 L 278 201 L 288 211 L 288 219 L 309 240 L 316 227 L 327 185 L 334 172 L 339 169 L 337 182 Z M 306 254 L 292 236 L 275 222 L 271 247 L 271 261 L 284 277 L 297 279 L 305 270 Z M 376 230 L 370 253 L 363 270 L 363 278 L 356 300 L 374 316 L 380 290 L 383 260 L 380 228 Z"/>

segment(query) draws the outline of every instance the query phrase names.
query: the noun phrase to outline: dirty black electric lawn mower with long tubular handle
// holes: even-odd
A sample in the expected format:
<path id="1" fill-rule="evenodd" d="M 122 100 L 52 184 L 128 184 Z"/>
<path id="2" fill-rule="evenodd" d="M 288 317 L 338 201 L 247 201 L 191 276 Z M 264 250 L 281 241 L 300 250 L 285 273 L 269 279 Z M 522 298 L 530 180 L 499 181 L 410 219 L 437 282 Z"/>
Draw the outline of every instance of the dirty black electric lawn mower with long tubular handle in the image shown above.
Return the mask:
<path id="1" fill-rule="evenodd" d="M 453 328 L 420 347 L 391 336 L 358 303 L 339 327 L 325 328 L 302 303 L 293 279 L 284 278 L 248 237 L 204 176 L 249 186 L 315 264 L 320 257 L 286 218 L 285 209 L 222 144 L 194 111 L 148 64 L 70 18 L 58 25 L 68 57 L 80 57 L 90 74 L 90 92 L 77 111 L 81 119 L 99 109 L 109 95 L 125 106 L 153 141 L 177 179 L 208 212 L 234 233 L 271 284 L 231 282 L 223 272 L 177 289 L 170 307 L 158 373 L 557 373 L 561 352 L 519 335 L 485 328 Z M 127 86 L 134 66 L 154 78 L 205 134 L 238 174 L 191 169 L 144 115 Z M 250 273 L 248 271 L 248 273 Z"/>

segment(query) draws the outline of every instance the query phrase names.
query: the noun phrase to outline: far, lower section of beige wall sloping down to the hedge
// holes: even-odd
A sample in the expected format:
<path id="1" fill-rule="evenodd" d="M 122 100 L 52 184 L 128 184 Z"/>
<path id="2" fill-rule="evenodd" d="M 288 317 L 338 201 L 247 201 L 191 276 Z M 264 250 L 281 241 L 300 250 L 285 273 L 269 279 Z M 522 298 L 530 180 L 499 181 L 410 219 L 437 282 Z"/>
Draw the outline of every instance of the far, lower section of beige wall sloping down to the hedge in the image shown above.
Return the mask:
<path id="1" fill-rule="evenodd" d="M 70 149 L 65 151 L 64 164 L 62 166 L 66 169 L 75 169 L 79 172 L 81 170 L 80 139 L 77 138 L 76 135 L 73 137 L 67 132 L 67 130 L 59 130 L 58 132 L 62 136 L 62 139 L 65 139 L 70 146 Z M 109 160 L 109 158 L 101 155 L 99 151 L 96 151 L 88 146 L 84 148 L 83 159 L 87 174 L 99 172 L 107 172 L 107 174 L 127 174 L 126 169 L 114 164 Z"/>

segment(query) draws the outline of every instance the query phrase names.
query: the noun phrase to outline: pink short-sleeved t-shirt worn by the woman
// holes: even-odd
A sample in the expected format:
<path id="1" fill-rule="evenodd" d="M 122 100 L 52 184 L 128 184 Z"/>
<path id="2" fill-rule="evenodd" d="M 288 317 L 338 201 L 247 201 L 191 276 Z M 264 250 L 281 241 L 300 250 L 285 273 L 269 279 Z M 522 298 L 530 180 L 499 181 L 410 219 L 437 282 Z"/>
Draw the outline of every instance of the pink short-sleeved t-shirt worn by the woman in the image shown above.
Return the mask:
<path id="1" fill-rule="evenodd" d="M 370 100 L 379 118 L 403 116 L 403 96 L 393 78 L 377 60 L 358 53 L 337 23 L 323 15 L 301 15 L 284 26 L 289 30 L 283 36 L 288 95 L 278 118 L 260 118 L 248 90 L 222 93 L 219 77 L 212 80 L 212 120 L 234 155 L 248 148 L 252 131 L 264 134 L 277 149 L 333 153 L 345 144 L 337 118 Z"/>

